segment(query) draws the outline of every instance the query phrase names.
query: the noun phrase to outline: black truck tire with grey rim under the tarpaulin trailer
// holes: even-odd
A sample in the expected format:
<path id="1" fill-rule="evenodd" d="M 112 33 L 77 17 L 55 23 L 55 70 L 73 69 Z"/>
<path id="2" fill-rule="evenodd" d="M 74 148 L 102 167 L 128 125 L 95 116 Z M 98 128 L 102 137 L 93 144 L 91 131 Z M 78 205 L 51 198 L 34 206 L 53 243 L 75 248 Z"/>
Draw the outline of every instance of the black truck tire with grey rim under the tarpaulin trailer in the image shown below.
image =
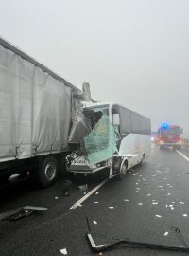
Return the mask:
<path id="1" fill-rule="evenodd" d="M 60 167 L 54 156 L 43 158 L 39 168 L 39 181 L 43 188 L 51 186 L 58 178 Z"/>

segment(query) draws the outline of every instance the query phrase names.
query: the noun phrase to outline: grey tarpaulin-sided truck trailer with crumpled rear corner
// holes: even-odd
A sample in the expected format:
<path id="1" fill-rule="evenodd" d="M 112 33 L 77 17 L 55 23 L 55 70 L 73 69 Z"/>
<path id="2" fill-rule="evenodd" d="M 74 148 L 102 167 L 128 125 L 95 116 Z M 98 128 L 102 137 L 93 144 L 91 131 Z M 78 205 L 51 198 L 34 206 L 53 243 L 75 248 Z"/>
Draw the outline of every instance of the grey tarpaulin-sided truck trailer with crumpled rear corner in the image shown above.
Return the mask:
<path id="1" fill-rule="evenodd" d="M 81 96 L 77 87 L 0 38 L 0 184 L 33 174 L 43 186 L 56 180 L 63 153 L 87 130 Z M 77 129 L 78 121 L 84 129 Z"/>

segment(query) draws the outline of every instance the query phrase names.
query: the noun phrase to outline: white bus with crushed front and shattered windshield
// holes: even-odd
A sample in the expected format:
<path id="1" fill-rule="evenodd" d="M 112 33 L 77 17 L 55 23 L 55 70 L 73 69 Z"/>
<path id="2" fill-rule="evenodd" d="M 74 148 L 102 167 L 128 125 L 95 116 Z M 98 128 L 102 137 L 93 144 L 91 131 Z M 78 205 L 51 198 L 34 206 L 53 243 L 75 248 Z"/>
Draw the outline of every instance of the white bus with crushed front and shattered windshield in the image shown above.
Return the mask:
<path id="1" fill-rule="evenodd" d="M 105 159 L 103 159 L 106 149 L 100 149 L 99 137 L 96 137 L 96 140 L 93 137 L 94 143 L 91 145 L 91 148 L 94 149 L 94 152 L 99 150 L 99 161 L 94 163 L 89 161 L 83 142 L 77 151 L 67 156 L 68 172 L 92 174 L 109 168 L 110 177 L 117 175 L 119 178 L 122 178 L 127 170 L 143 163 L 145 158 L 149 156 L 151 145 L 150 119 L 114 103 L 96 103 L 85 107 L 83 113 L 91 123 L 92 132 L 97 125 L 96 123 L 100 123 L 103 117 L 108 117 L 113 127 L 113 134 L 115 135 L 116 150 L 112 152 L 110 158 L 107 159 L 105 156 Z M 97 120 L 94 120 L 94 116 L 97 116 Z M 106 136 L 109 137 L 110 133 L 107 133 Z M 101 139 L 100 143 L 103 143 L 103 139 Z"/>

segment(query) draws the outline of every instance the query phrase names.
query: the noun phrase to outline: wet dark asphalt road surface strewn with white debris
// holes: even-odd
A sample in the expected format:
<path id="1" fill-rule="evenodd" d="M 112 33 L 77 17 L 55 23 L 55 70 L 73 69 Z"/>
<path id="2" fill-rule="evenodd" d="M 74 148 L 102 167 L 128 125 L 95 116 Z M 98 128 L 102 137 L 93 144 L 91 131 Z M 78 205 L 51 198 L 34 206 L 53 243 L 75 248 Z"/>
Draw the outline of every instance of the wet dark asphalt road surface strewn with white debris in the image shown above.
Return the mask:
<path id="1" fill-rule="evenodd" d="M 0 255 L 57 256 L 66 252 L 67 255 L 98 255 L 86 240 L 89 226 L 98 245 L 115 241 L 112 238 L 181 247 L 185 246 L 184 239 L 189 245 L 188 151 L 160 150 L 152 146 L 150 158 L 142 167 L 129 170 L 121 181 L 112 179 L 102 185 L 105 179 L 105 175 L 99 174 L 70 177 L 69 196 L 64 193 L 63 177 L 45 190 L 29 182 L 1 191 L 0 213 L 26 205 L 48 210 L 18 221 L 1 221 Z M 88 185 L 87 191 L 78 189 L 83 184 Z M 96 191 L 88 196 L 94 188 Z M 86 198 L 80 202 L 83 196 Z M 179 228 L 180 233 L 174 227 Z M 102 253 L 186 255 L 127 246 Z"/>

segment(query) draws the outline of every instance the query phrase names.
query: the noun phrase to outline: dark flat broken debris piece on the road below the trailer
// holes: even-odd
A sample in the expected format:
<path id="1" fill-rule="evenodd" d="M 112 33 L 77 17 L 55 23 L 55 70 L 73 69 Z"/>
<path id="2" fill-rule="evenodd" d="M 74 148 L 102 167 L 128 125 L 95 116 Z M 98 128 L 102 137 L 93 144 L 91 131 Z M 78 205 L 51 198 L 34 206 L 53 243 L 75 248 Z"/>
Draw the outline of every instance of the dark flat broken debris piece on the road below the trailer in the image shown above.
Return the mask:
<path id="1" fill-rule="evenodd" d="M 22 218 L 26 218 L 32 213 L 36 211 L 43 211 L 47 210 L 47 208 L 44 207 L 34 207 L 34 206 L 25 206 L 22 208 L 18 208 L 16 210 L 11 210 L 9 212 L 1 213 L 0 214 L 0 221 L 2 220 L 11 220 L 16 221 L 20 220 Z"/>

